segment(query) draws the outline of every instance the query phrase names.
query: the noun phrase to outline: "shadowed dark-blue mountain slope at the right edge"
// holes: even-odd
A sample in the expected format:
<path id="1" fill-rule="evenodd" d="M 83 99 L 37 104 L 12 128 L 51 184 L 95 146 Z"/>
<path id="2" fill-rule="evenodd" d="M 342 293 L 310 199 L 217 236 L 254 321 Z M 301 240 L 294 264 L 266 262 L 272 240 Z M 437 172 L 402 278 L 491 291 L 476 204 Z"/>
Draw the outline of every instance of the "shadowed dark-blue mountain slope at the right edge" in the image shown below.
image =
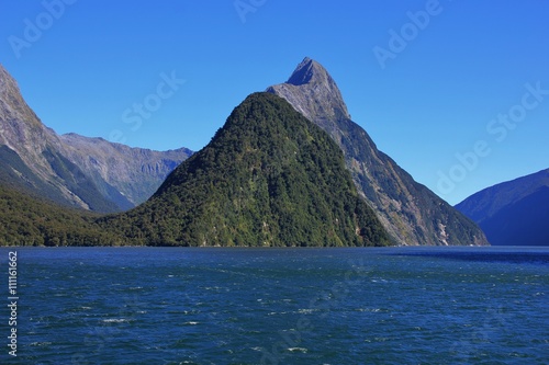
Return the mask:
<path id="1" fill-rule="evenodd" d="M 456 208 L 492 244 L 549 246 L 549 169 L 484 189 Z"/>

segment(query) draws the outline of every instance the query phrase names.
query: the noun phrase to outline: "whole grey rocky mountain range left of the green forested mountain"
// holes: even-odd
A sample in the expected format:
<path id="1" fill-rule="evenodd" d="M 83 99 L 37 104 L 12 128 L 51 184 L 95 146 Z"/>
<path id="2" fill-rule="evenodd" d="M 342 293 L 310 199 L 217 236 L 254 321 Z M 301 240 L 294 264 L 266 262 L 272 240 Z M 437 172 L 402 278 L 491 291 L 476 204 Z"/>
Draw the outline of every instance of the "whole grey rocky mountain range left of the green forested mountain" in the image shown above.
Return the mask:
<path id="1" fill-rule="evenodd" d="M 156 152 L 77 135 L 58 136 L 0 66 L 0 183 L 94 212 L 128 209 L 153 195 L 191 155 Z"/>

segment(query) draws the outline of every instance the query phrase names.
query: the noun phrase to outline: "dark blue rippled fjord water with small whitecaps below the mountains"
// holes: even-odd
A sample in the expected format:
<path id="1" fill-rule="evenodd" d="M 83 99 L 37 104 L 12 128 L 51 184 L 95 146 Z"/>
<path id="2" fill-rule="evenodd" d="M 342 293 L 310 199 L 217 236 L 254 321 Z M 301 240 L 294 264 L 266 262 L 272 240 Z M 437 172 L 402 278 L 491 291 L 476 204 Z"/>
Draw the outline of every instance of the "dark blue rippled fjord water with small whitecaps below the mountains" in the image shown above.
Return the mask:
<path id="1" fill-rule="evenodd" d="M 549 360 L 548 248 L 11 251 L 18 357 L 3 315 L 2 364 Z"/>

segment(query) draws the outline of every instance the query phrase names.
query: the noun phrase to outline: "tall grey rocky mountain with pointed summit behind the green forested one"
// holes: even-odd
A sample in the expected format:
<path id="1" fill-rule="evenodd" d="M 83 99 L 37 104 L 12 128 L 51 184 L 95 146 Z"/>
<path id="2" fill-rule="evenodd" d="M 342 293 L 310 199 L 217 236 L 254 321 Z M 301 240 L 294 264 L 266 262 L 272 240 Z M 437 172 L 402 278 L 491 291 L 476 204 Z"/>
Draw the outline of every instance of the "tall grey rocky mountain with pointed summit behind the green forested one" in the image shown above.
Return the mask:
<path id="1" fill-rule="evenodd" d="M 378 150 L 351 121 L 341 93 L 326 69 L 305 58 L 285 83 L 267 89 L 328 133 L 345 155 L 359 193 L 399 244 L 482 246 L 484 233 Z"/>

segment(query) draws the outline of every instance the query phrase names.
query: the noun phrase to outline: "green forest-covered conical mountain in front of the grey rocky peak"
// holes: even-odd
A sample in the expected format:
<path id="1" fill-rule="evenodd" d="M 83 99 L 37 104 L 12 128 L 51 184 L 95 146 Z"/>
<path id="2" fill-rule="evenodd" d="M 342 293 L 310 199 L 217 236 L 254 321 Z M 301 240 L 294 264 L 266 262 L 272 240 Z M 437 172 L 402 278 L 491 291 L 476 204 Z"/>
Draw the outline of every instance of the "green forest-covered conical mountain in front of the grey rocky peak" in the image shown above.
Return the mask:
<path id="1" fill-rule="evenodd" d="M 147 244 L 391 243 L 338 146 L 269 93 L 248 96 L 149 201 L 99 224 Z"/>

